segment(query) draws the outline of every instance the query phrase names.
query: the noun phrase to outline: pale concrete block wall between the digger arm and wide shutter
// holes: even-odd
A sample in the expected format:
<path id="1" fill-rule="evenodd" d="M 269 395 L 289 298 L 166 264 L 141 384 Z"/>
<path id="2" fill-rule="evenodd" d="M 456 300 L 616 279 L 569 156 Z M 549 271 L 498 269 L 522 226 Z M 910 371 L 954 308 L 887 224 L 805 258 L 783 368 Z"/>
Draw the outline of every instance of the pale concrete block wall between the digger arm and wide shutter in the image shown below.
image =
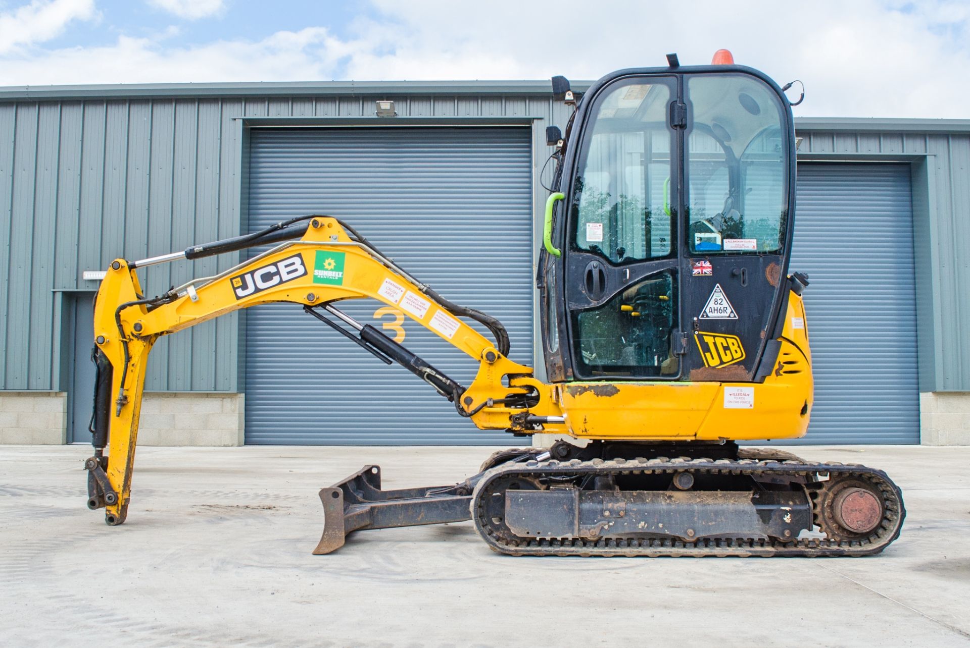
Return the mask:
<path id="1" fill-rule="evenodd" d="M 242 446 L 241 393 L 146 392 L 139 446 Z"/>

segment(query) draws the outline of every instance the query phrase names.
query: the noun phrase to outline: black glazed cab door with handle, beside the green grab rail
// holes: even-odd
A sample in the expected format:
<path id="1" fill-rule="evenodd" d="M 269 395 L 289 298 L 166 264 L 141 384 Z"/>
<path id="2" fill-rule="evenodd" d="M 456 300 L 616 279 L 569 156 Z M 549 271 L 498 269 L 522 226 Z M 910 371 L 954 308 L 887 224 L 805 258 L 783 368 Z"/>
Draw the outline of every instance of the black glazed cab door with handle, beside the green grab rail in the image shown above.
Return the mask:
<path id="1" fill-rule="evenodd" d="M 678 94 L 672 75 L 620 77 L 586 108 L 566 204 L 573 379 L 681 375 Z"/>

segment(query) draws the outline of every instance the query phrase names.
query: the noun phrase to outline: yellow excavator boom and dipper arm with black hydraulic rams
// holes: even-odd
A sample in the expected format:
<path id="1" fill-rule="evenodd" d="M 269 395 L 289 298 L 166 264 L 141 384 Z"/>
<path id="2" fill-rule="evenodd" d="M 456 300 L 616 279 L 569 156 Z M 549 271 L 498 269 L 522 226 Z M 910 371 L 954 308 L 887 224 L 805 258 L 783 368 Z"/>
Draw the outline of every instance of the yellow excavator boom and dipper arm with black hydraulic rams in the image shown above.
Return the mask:
<path id="1" fill-rule="evenodd" d="M 381 301 L 400 309 L 479 363 L 471 385 L 455 389 L 456 383 L 445 380 L 447 377 L 437 374 L 434 367 L 376 329 L 358 329 L 365 345 L 401 362 L 435 386 L 477 427 L 531 431 L 541 421 L 547 431 L 565 429 L 552 387 L 537 381 L 531 367 L 506 357 L 507 337 L 503 342 L 497 334 L 493 343 L 459 319 L 486 318 L 484 324 L 489 325 L 490 318 L 441 298 L 337 219 L 311 218 L 298 240 L 286 240 L 295 236 L 295 221 L 287 223 L 263 237 L 238 237 L 143 262 L 118 259 L 111 264 L 95 302 L 94 334 L 99 383 L 107 387 L 109 377 L 101 372 L 109 374 L 112 401 L 108 412 L 95 417 L 95 456 L 87 464 L 88 506 L 104 506 L 108 524 L 120 524 L 126 515 L 146 360 L 155 340 L 257 304 L 293 302 L 312 310 L 323 307 L 341 317 L 333 306 L 335 302 L 365 297 Z M 142 296 L 138 267 L 231 252 L 268 240 L 283 242 L 215 277 L 189 282 L 160 297 Z M 490 328 L 503 334 L 501 324 L 491 323 Z M 453 391 L 447 393 L 448 389 Z M 106 409 L 104 393 L 99 393 L 96 401 L 101 403 L 101 410 Z M 97 424 L 102 429 L 97 429 Z M 99 440 L 102 447 L 98 447 Z M 105 442 L 107 456 L 103 452 Z"/>

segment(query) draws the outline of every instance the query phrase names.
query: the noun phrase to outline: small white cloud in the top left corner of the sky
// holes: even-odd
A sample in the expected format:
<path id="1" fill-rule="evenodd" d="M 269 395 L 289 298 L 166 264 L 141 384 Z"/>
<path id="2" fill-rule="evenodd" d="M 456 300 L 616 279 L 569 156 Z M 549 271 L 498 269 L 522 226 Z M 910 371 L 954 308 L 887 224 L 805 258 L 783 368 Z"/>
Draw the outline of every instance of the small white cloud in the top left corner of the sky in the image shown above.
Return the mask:
<path id="1" fill-rule="evenodd" d="M 89 20 L 95 14 L 94 0 L 33 0 L 14 11 L 2 12 L 0 54 L 49 41 L 73 20 Z"/>

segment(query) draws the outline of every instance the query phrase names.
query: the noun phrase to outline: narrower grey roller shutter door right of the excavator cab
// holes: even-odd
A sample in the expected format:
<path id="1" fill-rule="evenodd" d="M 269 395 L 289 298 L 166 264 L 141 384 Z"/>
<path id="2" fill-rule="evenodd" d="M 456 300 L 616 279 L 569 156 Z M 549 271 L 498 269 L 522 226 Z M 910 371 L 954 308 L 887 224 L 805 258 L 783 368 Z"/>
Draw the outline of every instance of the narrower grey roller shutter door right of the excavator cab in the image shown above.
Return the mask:
<path id="1" fill-rule="evenodd" d="M 918 444 L 908 165 L 798 165 L 792 270 L 815 371 L 806 443 Z"/>

